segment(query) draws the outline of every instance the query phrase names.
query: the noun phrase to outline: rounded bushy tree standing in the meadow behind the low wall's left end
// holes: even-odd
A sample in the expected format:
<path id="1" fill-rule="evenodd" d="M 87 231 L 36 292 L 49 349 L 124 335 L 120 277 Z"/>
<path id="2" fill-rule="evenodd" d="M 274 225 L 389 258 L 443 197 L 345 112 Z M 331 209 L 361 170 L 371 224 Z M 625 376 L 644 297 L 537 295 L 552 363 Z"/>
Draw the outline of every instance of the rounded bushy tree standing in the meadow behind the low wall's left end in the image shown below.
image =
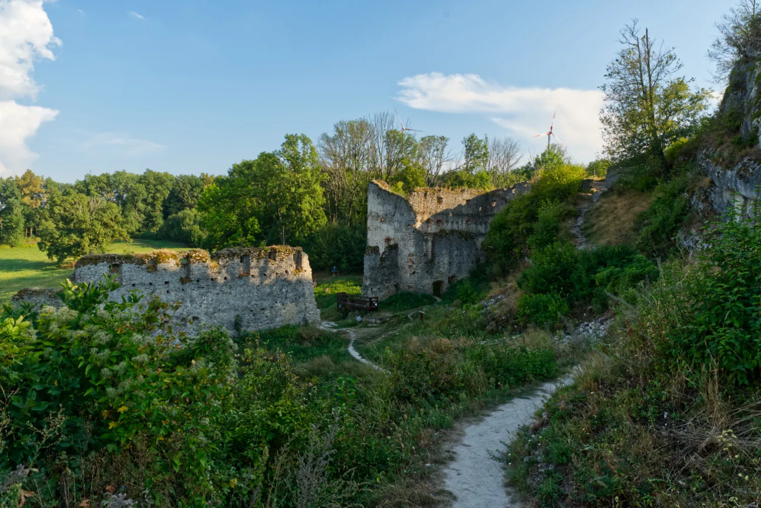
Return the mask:
<path id="1" fill-rule="evenodd" d="M 106 252 L 114 240 L 129 240 L 116 203 L 73 189 L 51 194 L 48 217 L 40 224 L 39 234 L 37 246 L 59 263 Z"/>

